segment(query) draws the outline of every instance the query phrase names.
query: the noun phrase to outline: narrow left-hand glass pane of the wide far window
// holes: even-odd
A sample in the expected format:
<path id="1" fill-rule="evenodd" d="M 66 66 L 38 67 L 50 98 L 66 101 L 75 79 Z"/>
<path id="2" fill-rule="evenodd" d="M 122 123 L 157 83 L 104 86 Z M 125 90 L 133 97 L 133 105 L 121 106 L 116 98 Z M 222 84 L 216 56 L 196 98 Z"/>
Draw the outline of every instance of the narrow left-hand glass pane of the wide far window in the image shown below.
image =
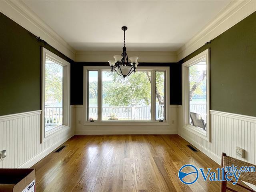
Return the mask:
<path id="1" fill-rule="evenodd" d="M 88 120 L 98 120 L 98 71 L 88 71 Z"/>

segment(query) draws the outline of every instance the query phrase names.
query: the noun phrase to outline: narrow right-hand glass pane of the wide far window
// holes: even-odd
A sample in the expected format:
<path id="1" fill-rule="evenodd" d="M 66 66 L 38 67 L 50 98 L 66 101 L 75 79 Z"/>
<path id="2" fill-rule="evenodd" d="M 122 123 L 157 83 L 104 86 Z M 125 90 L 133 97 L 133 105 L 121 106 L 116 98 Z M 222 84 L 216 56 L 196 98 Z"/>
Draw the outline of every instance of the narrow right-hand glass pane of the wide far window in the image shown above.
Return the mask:
<path id="1" fill-rule="evenodd" d="M 156 71 L 156 120 L 165 119 L 165 72 Z"/>

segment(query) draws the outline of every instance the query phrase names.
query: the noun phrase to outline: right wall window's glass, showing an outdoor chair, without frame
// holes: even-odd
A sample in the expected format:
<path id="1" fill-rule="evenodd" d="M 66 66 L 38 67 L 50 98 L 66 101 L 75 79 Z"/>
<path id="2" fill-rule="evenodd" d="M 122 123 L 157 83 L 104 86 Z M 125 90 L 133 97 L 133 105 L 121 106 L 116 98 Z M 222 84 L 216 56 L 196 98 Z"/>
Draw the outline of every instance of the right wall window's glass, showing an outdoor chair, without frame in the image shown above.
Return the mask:
<path id="1" fill-rule="evenodd" d="M 189 67 L 189 103 L 190 123 L 206 130 L 206 60 Z"/>

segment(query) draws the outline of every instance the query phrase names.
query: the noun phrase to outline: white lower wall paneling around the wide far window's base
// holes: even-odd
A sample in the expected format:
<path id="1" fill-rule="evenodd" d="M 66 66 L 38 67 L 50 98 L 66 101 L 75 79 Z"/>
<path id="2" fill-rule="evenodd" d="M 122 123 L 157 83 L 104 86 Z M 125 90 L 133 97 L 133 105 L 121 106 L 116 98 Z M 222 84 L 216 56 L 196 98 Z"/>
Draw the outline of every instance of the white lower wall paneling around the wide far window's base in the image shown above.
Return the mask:
<path id="1" fill-rule="evenodd" d="M 126 123 L 125 125 L 118 124 L 107 125 L 84 125 L 84 106 L 74 105 L 75 110 L 75 134 L 177 134 L 177 105 L 169 107 L 169 124 L 142 124 L 133 125 Z"/>

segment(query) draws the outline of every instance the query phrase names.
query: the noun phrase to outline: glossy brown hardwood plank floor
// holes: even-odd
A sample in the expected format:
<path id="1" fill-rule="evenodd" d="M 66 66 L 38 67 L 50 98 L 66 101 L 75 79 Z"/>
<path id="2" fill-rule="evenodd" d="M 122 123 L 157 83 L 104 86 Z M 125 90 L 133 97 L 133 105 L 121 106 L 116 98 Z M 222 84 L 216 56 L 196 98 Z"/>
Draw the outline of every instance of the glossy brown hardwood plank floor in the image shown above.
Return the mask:
<path id="1" fill-rule="evenodd" d="M 180 182 L 178 170 L 184 164 L 219 167 L 188 144 L 178 135 L 76 135 L 32 167 L 36 192 L 220 191 L 220 182 L 202 177 L 191 185 Z"/>

